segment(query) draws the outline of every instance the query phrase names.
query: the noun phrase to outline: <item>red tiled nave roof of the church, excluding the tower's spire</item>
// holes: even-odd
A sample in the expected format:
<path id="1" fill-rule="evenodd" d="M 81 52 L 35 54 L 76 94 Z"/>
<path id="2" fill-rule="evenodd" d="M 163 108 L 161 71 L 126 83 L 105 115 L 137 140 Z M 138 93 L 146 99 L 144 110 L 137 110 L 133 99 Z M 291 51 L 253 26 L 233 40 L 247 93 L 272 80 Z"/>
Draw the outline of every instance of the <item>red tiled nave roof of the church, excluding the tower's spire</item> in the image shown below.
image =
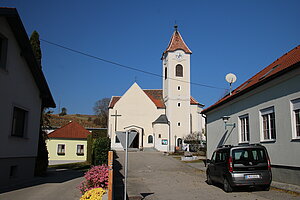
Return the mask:
<path id="1" fill-rule="evenodd" d="M 151 101 L 156 105 L 157 108 L 166 108 L 166 106 L 164 104 L 164 100 L 163 100 L 163 90 L 162 89 L 156 89 L 156 90 L 147 89 L 147 90 L 143 90 L 143 91 L 151 99 Z M 110 100 L 108 108 L 113 108 L 115 106 L 115 104 L 119 101 L 120 98 L 121 98 L 120 96 L 113 96 Z M 204 106 L 204 105 L 200 104 L 198 101 L 196 101 L 193 97 L 191 97 L 190 103 L 191 103 L 191 105 Z"/>

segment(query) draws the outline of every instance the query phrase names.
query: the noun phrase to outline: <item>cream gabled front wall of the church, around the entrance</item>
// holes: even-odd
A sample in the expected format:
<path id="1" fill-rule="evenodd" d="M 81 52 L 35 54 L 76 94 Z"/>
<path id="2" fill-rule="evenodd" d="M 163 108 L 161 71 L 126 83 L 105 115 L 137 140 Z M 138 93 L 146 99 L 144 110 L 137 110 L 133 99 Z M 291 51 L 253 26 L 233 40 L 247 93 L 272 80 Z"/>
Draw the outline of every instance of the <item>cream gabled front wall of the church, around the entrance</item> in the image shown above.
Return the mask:
<path id="1" fill-rule="evenodd" d="M 157 109 L 156 105 L 149 99 L 145 92 L 134 83 L 127 92 L 115 104 L 113 109 L 109 111 L 109 133 L 112 138 L 112 148 L 122 149 L 120 144 L 115 143 L 115 114 L 117 110 L 117 131 L 125 131 L 126 127 L 136 126 L 139 133 L 139 148 L 152 147 L 153 144 L 148 144 L 149 135 L 153 135 L 152 122 L 155 121 L 161 114 L 164 114 L 164 109 Z M 142 131 L 143 130 L 143 131 Z M 142 138 L 142 133 L 143 138 Z M 143 144 L 142 144 L 143 141 Z"/>

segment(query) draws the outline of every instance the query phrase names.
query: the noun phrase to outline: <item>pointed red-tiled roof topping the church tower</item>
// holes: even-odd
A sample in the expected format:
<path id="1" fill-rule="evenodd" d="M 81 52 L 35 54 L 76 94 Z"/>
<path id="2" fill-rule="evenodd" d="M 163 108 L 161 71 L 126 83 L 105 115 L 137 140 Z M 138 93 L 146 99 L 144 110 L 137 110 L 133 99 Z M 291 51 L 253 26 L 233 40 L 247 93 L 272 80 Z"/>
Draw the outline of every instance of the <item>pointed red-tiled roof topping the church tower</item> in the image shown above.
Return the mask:
<path id="1" fill-rule="evenodd" d="M 179 31 L 176 29 L 171 37 L 169 45 L 167 49 L 164 51 L 164 54 L 169 51 L 176 51 L 178 49 L 183 50 L 185 53 L 192 53 L 192 51 L 188 48 L 188 46 L 183 41 Z"/>

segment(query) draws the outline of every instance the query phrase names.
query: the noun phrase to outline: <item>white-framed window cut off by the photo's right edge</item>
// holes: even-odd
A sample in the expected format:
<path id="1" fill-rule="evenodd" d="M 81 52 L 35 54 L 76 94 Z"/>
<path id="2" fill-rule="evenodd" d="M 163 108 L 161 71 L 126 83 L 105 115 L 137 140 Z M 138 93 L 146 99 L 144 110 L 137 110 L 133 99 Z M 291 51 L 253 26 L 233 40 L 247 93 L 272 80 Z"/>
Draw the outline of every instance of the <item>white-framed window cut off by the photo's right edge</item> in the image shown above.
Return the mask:
<path id="1" fill-rule="evenodd" d="M 291 103 L 293 139 L 300 139 L 300 98 L 292 100 Z"/>

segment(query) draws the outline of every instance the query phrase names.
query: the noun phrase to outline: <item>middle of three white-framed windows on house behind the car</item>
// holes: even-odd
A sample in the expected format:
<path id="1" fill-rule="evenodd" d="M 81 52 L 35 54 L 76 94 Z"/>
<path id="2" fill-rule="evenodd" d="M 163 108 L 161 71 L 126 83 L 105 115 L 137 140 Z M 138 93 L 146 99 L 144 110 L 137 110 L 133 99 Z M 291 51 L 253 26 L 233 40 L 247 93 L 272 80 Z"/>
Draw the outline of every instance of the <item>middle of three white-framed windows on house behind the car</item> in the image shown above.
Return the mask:
<path id="1" fill-rule="evenodd" d="M 274 107 L 269 107 L 260 111 L 261 114 L 261 130 L 262 140 L 275 140 L 276 127 L 275 127 L 275 110 Z"/>

